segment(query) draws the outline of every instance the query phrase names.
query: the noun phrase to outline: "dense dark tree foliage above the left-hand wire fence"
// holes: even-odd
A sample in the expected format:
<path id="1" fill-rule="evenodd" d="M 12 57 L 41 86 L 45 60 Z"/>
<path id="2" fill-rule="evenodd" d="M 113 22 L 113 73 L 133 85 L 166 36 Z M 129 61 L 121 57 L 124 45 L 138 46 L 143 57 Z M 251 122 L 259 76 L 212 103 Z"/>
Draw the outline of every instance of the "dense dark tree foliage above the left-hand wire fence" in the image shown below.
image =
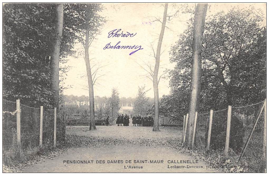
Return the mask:
<path id="1" fill-rule="evenodd" d="M 60 62 L 78 39 L 74 4 L 64 4 Z M 9 3 L 3 6 L 3 98 L 39 107 L 52 105 L 50 56 L 55 42 L 56 4 Z M 63 76 L 66 69 L 60 69 Z M 63 87 L 60 87 L 60 92 Z"/>

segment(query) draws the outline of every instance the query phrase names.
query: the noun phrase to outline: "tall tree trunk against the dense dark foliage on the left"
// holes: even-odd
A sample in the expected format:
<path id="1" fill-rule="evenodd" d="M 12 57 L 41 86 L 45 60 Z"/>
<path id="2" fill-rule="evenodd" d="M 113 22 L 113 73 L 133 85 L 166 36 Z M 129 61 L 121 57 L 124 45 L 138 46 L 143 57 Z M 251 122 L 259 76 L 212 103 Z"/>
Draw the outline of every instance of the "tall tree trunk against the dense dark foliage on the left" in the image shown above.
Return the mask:
<path id="1" fill-rule="evenodd" d="M 59 108 L 59 57 L 63 32 L 63 4 L 56 5 L 56 38 L 53 53 L 51 56 L 51 88 L 54 95 L 53 105 Z"/>

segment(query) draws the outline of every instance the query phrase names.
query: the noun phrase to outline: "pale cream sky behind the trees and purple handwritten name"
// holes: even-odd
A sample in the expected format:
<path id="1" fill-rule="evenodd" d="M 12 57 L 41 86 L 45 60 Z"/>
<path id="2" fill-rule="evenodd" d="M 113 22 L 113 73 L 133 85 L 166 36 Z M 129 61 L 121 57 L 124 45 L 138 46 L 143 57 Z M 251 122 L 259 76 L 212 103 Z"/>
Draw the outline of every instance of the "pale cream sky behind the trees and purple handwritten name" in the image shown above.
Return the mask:
<path id="1" fill-rule="evenodd" d="M 239 6 L 240 8 L 253 6 L 255 10 L 261 8 L 264 12 L 264 19 L 266 19 L 265 3 L 210 3 L 209 5 L 207 15 L 221 10 L 227 12 L 234 6 Z M 162 21 L 164 6 L 156 3 L 105 3 L 103 6 L 105 9 L 100 12 L 100 15 L 104 16 L 107 22 L 89 48 L 92 72 L 100 67 L 96 75 L 96 77 L 100 77 L 94 84 L 94 96 L 108 97 L 111 95 L 112 88 L 117 88 L 120 97 L 136 97 L 138 87 L 145 85 L 146 89 L 149 90 L 146 93 L 147 97 L 154 97 L 153 82 L 146 76 L 149 75 L 147 71 L 150 71 L 148 66 L 154 69 L 154 52 L 156 53 L 158 36 L 161 31 L 161 22 L 154 20 L 157 18 Z M 159 76 L 166 69 L 173 69 L 175 66 L 175 64 L 169 62 L 169 51 L 171 46 L 178 40 L 178 35 L 186 29 L 187 21 L 193 17 L 190 13 L 182 13 L 186 6 L 192 9 L 195 8 L 194 3 L 168 4 L 168 15 L 174 14 L 180 7 L 182 8 L 179 10 L 179 15 L 166 24 L 167 27 L 164 31 L 161 47 Z M 264 23 L 266 25 L 266 20 Z M 121 31 L 118 33 L 133 33 L 132 37 L 108 38 L 109 32 L 119 29 Z M 115 46 L 118 42 L 120 42 L 119 46 L 135 45 L 137 49 L 143 49 L 131 55 L 129 55 L 131 52 L 137 50 L 134 49 L 136 47 L 133 49 L 104 49 L 108 43 L 110 43 L 110 46 Z M 77 51 L 77 57 L 68 57 L 68 62 L 65 65 L 60 65 L 60 67 L 69 66 L 69 71 L 66 73 L 65 79 L 63 79 L 64 86 L 67 87 L 63 93 L 77 96 L 89 95 L 86 65 L 83 54 L 79 54 L 79 52 L 83 53 L 84 48 L 78 43 L 74 50 Z M 170 91 L 167 75 L 163 75 L 164 78 L 160 80 L 158 85 L 160 97 L 169 94 Z"/>

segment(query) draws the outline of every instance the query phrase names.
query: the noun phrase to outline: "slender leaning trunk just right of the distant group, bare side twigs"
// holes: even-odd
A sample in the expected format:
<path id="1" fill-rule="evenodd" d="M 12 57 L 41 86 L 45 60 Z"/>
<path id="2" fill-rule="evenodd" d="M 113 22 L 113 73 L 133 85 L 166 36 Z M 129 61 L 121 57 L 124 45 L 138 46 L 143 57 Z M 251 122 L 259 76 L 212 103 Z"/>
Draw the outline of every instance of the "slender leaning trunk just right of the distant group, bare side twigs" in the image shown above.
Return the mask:
<path id="1" fill-rule="evenodd" d="M 164 18 L 162 20 L 162 29 L 158 41 L 156 58 L 155 58 L 155 67 L 154 67 L 154 74 L 153 74 L 153 89 L 154 89 L 154 124 L 152 131 L 160 131 L 159 129 L 159 91 L 158 91 L 158 71 L 160 66 L 160 54 L 161 54 L 161 46 L 162 46 L 162 38 L 164 37 L 164 29 L 166 23 L 166 16 L 167 16 L 167 7 L 168 4 L 165 4 L 164 7 Z"/>

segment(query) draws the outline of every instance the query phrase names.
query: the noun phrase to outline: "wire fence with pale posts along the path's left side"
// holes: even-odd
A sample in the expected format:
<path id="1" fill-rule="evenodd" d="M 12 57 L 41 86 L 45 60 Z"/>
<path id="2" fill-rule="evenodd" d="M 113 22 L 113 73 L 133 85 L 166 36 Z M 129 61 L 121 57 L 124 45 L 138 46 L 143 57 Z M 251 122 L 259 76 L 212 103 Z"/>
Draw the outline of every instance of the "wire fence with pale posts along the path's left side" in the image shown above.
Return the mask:
<path id="1" fill-rule="evenodd" d="M 3 99 L 3 158 L 18 157 L 21 152 L 38 147 L 47 149 L 54 146 L 54 110 L 43 109 L 42 141 L 40 141 L 41 109 L 20 103 L 19 106 L 18 109 L 16 102 Z M 18 113 L 20 113 L 20 131 L 17 132 Z M 56 113 L 56 144 L 61 144 L 65 137 L 65 121 L 61 117 L 61 112 Z"/>

